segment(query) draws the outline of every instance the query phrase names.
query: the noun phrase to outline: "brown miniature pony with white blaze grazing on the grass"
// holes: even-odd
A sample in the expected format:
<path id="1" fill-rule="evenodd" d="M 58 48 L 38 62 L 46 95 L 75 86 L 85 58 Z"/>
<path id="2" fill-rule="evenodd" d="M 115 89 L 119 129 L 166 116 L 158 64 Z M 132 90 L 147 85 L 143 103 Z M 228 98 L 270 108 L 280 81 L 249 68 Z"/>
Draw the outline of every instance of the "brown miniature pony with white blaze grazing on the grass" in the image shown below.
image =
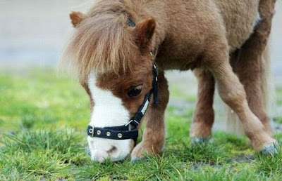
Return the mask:
<path id="1" fill-rule="evenodd" d="M 194 140 L 212 135 L 216 81 L 222 100 L 238 114 L 254 149 L 266 154 L 276 152 L 266 114 L 250 109 L 243 85 L 229 63 L 229 55 L 237 57 L 235 72 L 240 79 L 247 79 L 245 72 L 253 68 L 248 61 L 257 60 L 248 48 L 262 55 L 273 6 L 274 0 L 100 0 L 86 14 L 71 13 L 76 29 L 63 63 L 75 68 L 90 96 L 92 117 L 87 139 L 92 160 L 102 162 L 109 157 L 118 161 L 130 152 L 135 160 L 144 153 L 161 152 L 169 97 L 164 71 L 168 69 L 196 69 L 199 94 L 190 131 Z M 255 29 L 259 14 L 262 20 Z M 157 79 L 152 74 L 154 63 Z M 257 87 L 256 81 L 251 83 Z M 152 93 L 154 97 L 158 93 L 159 104 L 156 96 L 155 104 L 150 103 L 145 114 L 146 98 Z M 135 130 L 128 125 L 139 121 L 130 118 L 140 112 L 147 123 L 142 142 L 134 147 L 130 135 Z M 123 126 L 129 130 L 121 130 Z M 138 123 L 135 126 L 138 128 Z M 128 139 L 123 139 L 126 134 Z"/>

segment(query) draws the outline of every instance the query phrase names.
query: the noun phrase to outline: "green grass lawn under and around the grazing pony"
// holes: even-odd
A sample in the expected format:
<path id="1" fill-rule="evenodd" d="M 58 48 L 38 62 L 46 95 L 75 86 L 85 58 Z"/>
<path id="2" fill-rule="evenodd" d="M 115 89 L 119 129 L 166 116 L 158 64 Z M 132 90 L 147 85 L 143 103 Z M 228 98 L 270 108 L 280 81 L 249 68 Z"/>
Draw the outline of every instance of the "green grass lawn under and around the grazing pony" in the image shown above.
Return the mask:
<path id="1" fill-rule="evenodd" d="M 282 152 L 260 156 L 245 137 L 222 132 L 192 146 L 192 108 L 177 109 L 168 106 L 161 156 L 93 163 L 86 154 L 89 102 L 78 82 L 52 69 L 1 72 L 0 180 L 282 180 Z"/>

